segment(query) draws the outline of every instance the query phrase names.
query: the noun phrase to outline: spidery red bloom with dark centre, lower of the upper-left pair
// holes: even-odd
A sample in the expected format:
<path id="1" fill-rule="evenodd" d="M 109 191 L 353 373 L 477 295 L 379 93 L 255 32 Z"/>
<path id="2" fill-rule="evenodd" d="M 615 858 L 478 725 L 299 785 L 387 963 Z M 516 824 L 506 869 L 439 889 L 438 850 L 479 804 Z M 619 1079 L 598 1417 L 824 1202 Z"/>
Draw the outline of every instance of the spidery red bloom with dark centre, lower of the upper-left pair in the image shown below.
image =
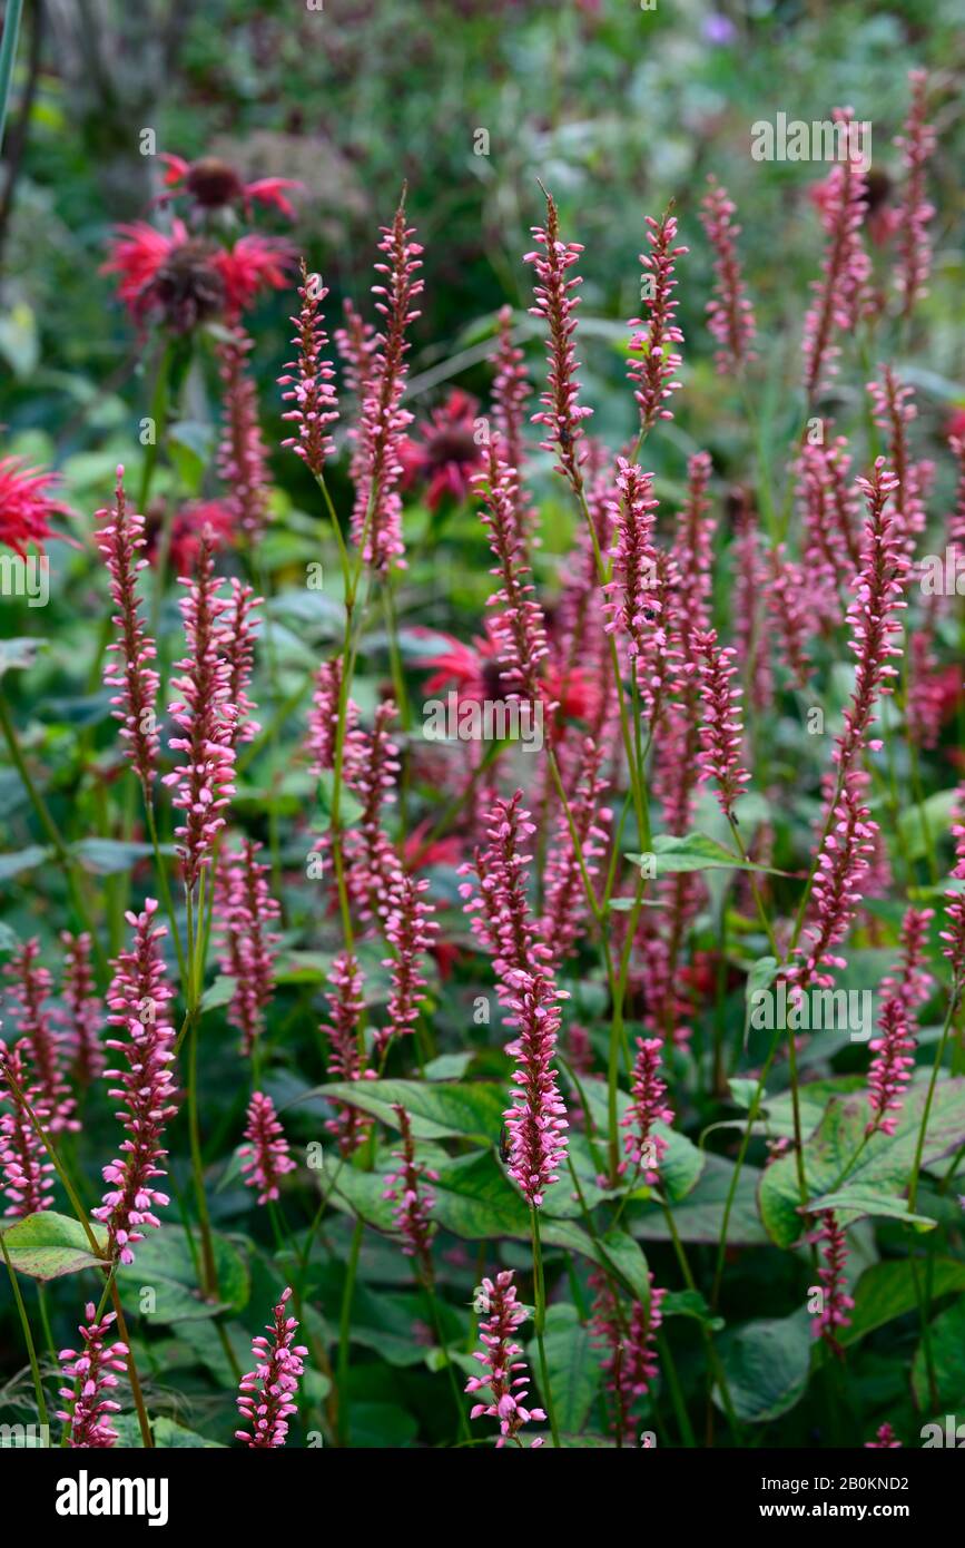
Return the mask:
<path id="1" fill-rule="evenodd" d="M 138 324 L 161 320 L 175 333 L 199 322 L 235 322 L 260 289 L 281 289 L 292 251 L 277 237 L 249 234 L 234 248 L 192 237 L 184 221 L 170 235 L 147 221 L 118 226 L 104 274 L 118 274 L 118 296 Z"/>

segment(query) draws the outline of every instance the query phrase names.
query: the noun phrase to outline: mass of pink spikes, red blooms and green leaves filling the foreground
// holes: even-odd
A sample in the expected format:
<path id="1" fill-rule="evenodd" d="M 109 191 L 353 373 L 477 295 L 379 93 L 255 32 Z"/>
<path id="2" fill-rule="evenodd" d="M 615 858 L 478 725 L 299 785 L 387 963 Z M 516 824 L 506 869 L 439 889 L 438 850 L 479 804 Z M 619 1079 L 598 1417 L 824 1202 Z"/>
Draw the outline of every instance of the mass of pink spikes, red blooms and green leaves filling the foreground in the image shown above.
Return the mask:
<path id="1" fill-rule="evenodd" d="M 71 577 L 59 638 L 0 644 L 22 1415 L 885 1447 L 965 1396 L 965 424 L 926 455 L 906 368 L 936 110 L 914 70 L 877 218 L 847 135 L 810 189 L 784 441 L 718 176 L 637 217 L 611 444 L 552 192 L 487 396 L 421 415 L 408 189 L 337 308 L 298 180 L 164 156 L 104 254 L 127 466 L 91 515 L 0 461 L 11 576 Z"/>

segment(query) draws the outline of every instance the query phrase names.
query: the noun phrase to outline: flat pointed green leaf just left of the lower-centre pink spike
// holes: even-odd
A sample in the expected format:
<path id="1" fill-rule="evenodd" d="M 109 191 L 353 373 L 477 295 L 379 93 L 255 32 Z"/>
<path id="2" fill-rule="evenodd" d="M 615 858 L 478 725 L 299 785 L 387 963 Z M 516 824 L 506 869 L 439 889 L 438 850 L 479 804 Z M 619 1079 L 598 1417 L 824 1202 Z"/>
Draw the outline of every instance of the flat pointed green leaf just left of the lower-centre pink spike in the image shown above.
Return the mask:
<path id="1" fill-rule="evenodd" d="M 390 1128 L 399 1127 L 393 1105 L 397 1102 L 408 1113 L 416 1138 L 445 1139 L 462 1135 L 489 1144 L 500 1138 L 507 1104 L 501 1085 L 484 1082 L 427 1087 L 419 1081 L 336 1081 L 314 1087 L 297 1098 L 295 1104 L 314 1096 L 360 1107 Z"/>

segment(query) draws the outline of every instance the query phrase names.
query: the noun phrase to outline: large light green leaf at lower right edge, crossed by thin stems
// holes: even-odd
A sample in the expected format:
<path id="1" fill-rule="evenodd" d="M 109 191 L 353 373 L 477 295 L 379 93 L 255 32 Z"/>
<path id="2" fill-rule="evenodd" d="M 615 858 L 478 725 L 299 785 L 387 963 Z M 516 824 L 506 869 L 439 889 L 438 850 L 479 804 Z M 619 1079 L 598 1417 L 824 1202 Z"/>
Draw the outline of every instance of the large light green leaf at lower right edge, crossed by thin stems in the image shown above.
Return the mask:
<path id="1" fill-rule="evenodd" d="M 900 1195 L 908 1186 L 914 1164 L 926 1090 L 926 1079 L 912 1085 L 895 1133 L 872 1135 L 860 1155 L 868 1124 L 868 1099 L 864 1094 L 832 1096 L 818 1128 L 804 1144 L 809 1204 L 817 1206 L 829 1190 L 843 1186 L 843 1178 L 847 1189 L 860 1192 L 864 1204 L 872 1200 L 883 1204 L 888 1198 Z M 965 1079 L 948 1077 L 934 1093 L 922 1164 L 939 1161 L 963 1141 Z M 855 1155 L 858 1159 L 852 1167 Z M 758 1201 L 761 1220 L 772 1241 L 781 1248 L 793 1246 L 806 1231 L 806 1221 L 800 1214 L 801 1197 L 793 1155 L 779 1156 L 761 1173 Z M 869 1214 L 866 1207 L 861 1212 Z"/>

